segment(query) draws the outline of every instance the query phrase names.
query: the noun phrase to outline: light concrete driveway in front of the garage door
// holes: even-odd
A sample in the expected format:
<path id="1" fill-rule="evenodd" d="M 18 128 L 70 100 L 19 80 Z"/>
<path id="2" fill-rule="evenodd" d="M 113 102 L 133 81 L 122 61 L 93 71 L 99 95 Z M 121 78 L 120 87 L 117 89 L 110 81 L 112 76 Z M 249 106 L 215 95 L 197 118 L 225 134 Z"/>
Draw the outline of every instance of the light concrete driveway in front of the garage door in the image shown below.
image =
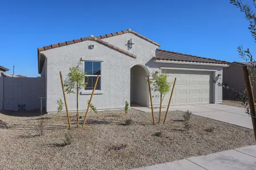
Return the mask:
<path id="1" fill-rule="evenodd" d="M 151 112 L 150 108 L 142 107 L 139 105 L 131 108 L 143 112 Z M 214 120 L 228 122 L 229 124 L 234 124 L 245 128 L 253 129 L 251 117 L 245 113 L 245 109 L 243 108 L 232 107 L 222 104 L 179 105 L 170 106 L 169 108 L 169 111 L 185 112 L 187 110 L 191 111 L 193 114 L 196 114 L 198 116 L 212 118 Z M 164 107 L 162 111 L 166 111 L 166 107 Z M 154 109 L 154 112 L 159 112 L 159 109 Z"/>

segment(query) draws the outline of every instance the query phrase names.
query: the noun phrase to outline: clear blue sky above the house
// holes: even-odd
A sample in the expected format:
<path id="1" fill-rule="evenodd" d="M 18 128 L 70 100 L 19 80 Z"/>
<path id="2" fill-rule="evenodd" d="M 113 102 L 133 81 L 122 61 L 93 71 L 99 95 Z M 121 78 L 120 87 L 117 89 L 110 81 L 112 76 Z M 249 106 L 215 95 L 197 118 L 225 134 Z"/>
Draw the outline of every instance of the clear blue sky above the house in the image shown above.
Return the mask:
<path id="1" fill-rule="evenodd" d="M 237 46 L 243 45 L 256 55 L 249 24 L 229 0 L 3 0 L 0 23 L 0 65 L 9 74 L 14 65 L 15 75 L 39 75 L 39 47 L 128 28 L 158 42 L 160 49 L 241 61 Z"/>

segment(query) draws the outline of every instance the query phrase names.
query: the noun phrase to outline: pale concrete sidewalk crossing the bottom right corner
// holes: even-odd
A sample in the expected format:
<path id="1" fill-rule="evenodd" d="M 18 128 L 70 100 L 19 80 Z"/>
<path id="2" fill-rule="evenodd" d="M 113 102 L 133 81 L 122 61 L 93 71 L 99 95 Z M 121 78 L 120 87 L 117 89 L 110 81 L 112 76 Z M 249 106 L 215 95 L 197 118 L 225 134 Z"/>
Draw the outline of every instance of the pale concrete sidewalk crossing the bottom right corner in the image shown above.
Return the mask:
<path id="1" fill-rule="evenodd" d="M 214 154 L 192 157 L 175 162 L 152 165 L 133 170 L 253 170 L 256 169 L 256 145 Z"/>

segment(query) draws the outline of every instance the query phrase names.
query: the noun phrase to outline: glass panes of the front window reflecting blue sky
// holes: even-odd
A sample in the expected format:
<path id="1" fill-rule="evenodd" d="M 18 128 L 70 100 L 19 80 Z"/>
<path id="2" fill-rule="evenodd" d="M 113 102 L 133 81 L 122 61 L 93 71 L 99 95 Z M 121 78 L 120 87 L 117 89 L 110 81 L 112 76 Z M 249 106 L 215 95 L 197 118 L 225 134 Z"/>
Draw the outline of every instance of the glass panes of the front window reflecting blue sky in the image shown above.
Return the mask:
<path id="1" fill-rule="evenodd" d="M 101 62 L 85 61 L 84 71 L 86 73 L 85 82 L 88 83 L 85 90 L 93 90 L 98 75 L 100 77 L 98 78 L 98 83 L 95 90 L 101 90 Z"/>

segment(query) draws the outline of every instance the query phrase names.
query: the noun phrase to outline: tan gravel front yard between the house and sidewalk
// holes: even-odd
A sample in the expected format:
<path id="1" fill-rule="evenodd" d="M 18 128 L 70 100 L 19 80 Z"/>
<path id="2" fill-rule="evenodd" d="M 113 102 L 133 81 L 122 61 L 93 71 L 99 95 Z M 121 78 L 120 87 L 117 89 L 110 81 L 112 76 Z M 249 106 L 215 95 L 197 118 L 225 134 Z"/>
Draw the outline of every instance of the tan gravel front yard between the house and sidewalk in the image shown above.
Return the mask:
<path id="1" fill-rule="evenodd" d="M 180 111 L 155 126 L 151 113 L 102 111 L 84 129 L 71 113 L 72 130 L 65 113 L 8 114 L 0 113 L 0 169 L 130 169 L 255 144 L 253 130 L 196 115 L 185 130 Z"/>

